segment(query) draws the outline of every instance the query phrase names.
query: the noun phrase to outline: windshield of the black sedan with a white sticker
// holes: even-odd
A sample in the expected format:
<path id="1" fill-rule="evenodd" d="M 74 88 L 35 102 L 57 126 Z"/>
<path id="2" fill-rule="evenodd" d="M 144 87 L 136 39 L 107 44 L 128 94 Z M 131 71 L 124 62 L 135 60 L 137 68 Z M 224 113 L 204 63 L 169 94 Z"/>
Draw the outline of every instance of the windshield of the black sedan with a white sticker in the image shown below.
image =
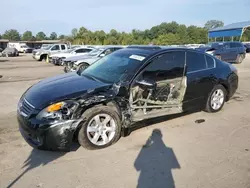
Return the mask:
<path id="1" fill-rule="evenodd" d="M 140 54 L 117 51 L 96 61 L 82 71 L 81 75 L 108 83 L 130 80 L 144 59 L 145 56 Z"/>

